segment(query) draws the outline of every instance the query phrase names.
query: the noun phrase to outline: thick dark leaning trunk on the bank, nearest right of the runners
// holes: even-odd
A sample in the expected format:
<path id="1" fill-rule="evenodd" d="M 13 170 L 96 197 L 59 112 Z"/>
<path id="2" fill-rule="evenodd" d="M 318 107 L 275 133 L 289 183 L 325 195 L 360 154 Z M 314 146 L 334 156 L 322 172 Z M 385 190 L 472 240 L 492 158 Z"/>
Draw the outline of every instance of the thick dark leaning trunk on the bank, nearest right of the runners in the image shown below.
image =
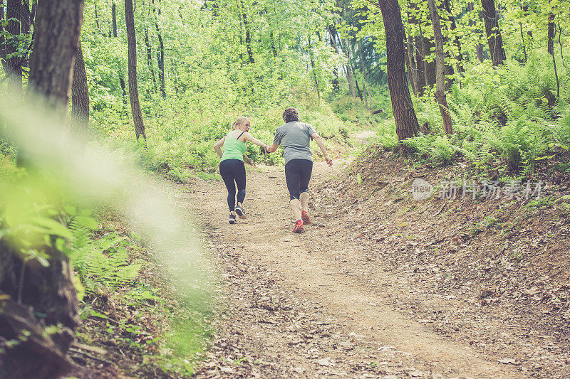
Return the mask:
<path id="1" fill-rule="evenodd" d="M 398 0 L 379 0 L 386 34 L 388 89 L 398 140 L 414 137 L 420 126 L 415 116 L 412 97 L 404 68 L 404 26 Z"/>

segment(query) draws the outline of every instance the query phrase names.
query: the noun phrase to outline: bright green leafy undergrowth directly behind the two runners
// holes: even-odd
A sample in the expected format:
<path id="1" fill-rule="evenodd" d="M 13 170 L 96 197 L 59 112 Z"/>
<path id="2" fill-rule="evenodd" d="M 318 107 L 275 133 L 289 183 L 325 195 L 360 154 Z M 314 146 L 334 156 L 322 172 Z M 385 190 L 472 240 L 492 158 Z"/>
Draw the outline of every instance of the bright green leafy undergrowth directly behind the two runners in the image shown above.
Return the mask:
<path id="1" fill-rule="evenodd" d="M 187 181 L 194 176 L 211 176 L 217 171 L 219 157 L 213 149 L 214 142 L 231 131 L 230 124 L 237 117 L 249 117 L 252 121 L 250 133 L 257 139 L 271 144 L 277 127 L 283 124 L 281 114 L 286 107 L 294 106 L 301 113 L 301 121 L 312 124 L 326 144 L 345 144 L 351 129 L 350 122 L 343 122 L 333 114 L 328 105 L 308 97 L 281 99 L 279 104 L 264 104 L 261 107 L 240 105 L 234 99 L 233 105 L 212 107 L 203 98 L 189 102 L 186 97 L 156 100 L 149 105 L 145 114 L 147 130 L 146 144 L 134 142 L 134 127 L 120 107 L 109 107 L 94 115 L 91 132 L 105 140 L 126 142 L 133 146 L 135 154 L 147 169 L 162 172 L 176 181 Z M 114 112 L 114 115 L 113 115 Z M 370 114 L 370 111 L 366 111 Z M 375 119 L 374 117 L 371 118 Z M 372 121 L 371 121 L 372 122 Z M 317 149 L 317 146 L 312 146 Z M 282 150 L 264 154 L 262 149 L 247 144 L 247 156 L 254 162 L 281 164 Z"/>

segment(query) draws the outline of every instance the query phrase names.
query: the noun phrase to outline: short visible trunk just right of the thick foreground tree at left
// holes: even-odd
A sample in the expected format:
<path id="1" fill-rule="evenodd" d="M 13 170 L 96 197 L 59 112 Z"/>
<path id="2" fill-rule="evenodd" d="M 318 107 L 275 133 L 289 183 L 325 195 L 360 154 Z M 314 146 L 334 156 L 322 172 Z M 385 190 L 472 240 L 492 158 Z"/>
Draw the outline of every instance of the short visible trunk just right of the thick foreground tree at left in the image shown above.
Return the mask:
<path id="1" fill-rule="evenodd" d="M 87 73 L 80 41 L 76 54 L 76 63 L 73 67 L 73 83 L 71 85 L 71 131 L 83 145 L 87 142 L 88 127 L 89 89 L 87 87 Z"/>

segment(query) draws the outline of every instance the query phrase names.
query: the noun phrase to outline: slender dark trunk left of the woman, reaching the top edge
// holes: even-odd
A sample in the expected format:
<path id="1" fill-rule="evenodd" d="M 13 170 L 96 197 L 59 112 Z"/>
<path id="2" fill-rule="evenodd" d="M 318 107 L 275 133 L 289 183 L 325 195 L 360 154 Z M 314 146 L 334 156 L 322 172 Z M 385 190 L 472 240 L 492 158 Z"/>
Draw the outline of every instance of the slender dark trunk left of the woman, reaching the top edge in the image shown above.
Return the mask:
<path id="1" fill-rule="evenodd" d="M 129 97 L 130 109 L 133 112 L 135 123 L 135 136 L 147 139 L 145 124 L 142 121 L 140 102 L 138 99 L 137 82 L 137 37 L 135 35 L 135 14 L 133 13 L 133 0 L 125 0 L 125 24 L 127 26 L 127 41 L 129 46 Z"/>

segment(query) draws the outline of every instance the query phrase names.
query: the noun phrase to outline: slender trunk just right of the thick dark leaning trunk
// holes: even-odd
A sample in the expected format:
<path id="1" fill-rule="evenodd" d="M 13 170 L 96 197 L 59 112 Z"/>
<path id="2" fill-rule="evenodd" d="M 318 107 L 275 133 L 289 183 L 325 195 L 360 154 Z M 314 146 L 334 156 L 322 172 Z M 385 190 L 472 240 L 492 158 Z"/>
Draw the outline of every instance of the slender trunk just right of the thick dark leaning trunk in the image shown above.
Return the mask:
<path id="1" fill-rule="evenodd" d="M 437 14 L 435 0 L 427 0 L 427 5 L 430 7 L 433 35 L 435 39 L 435 100 L 437 100 L 437 104 L 440 105 L 440 113 L 443 119 L 443 131 L 445 134 L 452 134 L 453 129 L 451 127 L 451 117 L 445 96 L 445 63 L 443 59 L 443 36 L 441 33 L 440 16 Z"/>

